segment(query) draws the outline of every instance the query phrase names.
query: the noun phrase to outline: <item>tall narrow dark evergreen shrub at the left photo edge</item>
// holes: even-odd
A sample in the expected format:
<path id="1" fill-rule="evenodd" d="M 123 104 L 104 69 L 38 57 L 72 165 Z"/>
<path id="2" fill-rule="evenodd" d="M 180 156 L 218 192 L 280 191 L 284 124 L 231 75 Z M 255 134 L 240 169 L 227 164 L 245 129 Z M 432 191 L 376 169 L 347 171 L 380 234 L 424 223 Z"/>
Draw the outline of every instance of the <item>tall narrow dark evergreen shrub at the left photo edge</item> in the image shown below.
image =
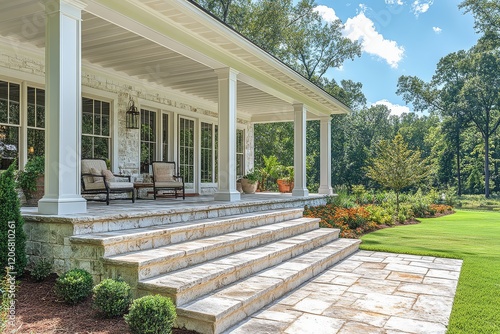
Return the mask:
<path id="1" fill-rule="evenodd" d="M 26 267 L 26 233 L 17 196 L 12 163 L 0 173 L 0 268 L 9 267 L 14 276 L 24 273 Z"/>

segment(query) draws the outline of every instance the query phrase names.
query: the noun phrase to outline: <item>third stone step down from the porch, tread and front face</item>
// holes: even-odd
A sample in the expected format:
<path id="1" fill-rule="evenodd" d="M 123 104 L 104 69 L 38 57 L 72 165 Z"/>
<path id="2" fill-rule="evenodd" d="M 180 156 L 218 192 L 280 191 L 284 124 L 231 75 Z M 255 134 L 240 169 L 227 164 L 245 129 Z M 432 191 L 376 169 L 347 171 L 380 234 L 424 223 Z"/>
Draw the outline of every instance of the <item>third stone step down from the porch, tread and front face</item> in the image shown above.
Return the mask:
<path id="1" fill-rule="evenodd" d="M 337 229 L 316 229 L 139 282 L 139 295 L 161 294 L 177 305 L 337 239 Z"/>

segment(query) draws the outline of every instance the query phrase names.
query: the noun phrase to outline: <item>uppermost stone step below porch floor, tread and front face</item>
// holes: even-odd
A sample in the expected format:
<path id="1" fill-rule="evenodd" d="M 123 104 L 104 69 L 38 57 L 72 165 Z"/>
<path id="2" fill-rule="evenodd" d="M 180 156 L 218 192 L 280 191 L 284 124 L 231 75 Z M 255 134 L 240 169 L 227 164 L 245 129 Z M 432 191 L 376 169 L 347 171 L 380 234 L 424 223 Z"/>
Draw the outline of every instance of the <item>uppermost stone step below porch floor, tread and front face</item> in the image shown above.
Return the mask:
<path id="1" fill-rule="evenodd" d="M 111 256 L 300 218 L 302 212 L 302 208 L 261 211 L 224 218 L 77 235 L 70 237 L 70 241 L 77 252 L 80 248 L 84 253 L 95 251 L 101 256 Z"/>

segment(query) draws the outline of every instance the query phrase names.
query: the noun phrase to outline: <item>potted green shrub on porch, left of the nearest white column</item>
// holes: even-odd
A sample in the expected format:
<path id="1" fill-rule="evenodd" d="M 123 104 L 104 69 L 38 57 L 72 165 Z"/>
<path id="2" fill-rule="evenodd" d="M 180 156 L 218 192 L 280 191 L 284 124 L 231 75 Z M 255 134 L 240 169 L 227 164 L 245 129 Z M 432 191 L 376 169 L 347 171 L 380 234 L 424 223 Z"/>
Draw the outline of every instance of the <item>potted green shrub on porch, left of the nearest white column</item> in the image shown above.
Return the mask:
<path id="1" fill-rule="evenodd" d="M 24 170 L 17 174 L 17 186 L 23 190 L 28 206 L 38 205 L 44 194 L 44 157 L 35 156 L 28 160 Z"/>

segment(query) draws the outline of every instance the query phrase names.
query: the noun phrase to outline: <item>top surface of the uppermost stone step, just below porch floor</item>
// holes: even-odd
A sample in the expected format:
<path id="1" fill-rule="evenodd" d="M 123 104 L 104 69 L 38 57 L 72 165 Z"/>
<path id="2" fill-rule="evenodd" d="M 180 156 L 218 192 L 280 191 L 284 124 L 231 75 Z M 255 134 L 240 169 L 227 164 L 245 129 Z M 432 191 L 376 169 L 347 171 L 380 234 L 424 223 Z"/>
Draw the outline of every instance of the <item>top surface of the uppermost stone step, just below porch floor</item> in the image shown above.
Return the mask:
<path id="1" fill-rule="evenodd" d="M 211 228 L 242 222 L 248 219 L 261 219 L 279 215 L 293 215 L 301 216 L 303 209 L 283 209 L 283 210 L 267 210 L 259 212 L 250 212 L 237 214 L 233 216 L 207 218 L 201 220 L 194 220 L 191 222 L 172 223 L 168 225 L 153 225 L 148 227 L 131 228 L 124 230 L 90 233 L 84 235 L 76 235 L 70 238 L 74 243 L 86 243 L 96 245 L 108 245 L 119 242 L 126 242 L 136 238 L 147 238 L 149 236 L 158 236 L 162 234 L 169 234 L 179 230 L 193 230 L 194 228 L 204 228 L 209 225 Z"/>

